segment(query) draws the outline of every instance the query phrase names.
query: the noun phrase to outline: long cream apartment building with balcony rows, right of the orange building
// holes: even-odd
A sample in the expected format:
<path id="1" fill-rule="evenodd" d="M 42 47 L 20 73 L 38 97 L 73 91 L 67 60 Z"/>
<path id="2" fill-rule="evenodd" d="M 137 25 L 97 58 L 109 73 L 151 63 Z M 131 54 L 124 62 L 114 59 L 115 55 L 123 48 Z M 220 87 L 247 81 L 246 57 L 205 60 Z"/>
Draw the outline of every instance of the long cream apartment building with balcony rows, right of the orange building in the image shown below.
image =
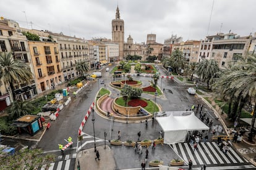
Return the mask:
<path id="1" fill-rule="evenodd" d="M 89 57 L 88 42 L 84 39 L 65 36 L 49 32 L 49 35 L 58 43 L 61 68 L 64 75 L 64 81 L 76 78 L 79 72 L 75 70 L 75 64 L 85 61 L 90 69 L 93 68 L 92 59 Z"/>

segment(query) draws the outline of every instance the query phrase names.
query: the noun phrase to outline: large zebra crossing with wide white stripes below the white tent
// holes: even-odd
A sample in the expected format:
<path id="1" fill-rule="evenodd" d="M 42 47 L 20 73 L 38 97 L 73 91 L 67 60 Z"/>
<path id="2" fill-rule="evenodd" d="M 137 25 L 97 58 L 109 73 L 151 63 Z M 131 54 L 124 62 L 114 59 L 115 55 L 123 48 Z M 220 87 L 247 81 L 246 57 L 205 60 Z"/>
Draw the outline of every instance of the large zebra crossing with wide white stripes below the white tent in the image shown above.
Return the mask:
<path id="1" fill-rule="evenodd" d="M 229 147 L 229 151 L 225 154 L 220 150 L 216 142 L 201 142 L 197 145 L 198 149 L 194 151 L 194 147 L 189 143 L 179 143 L 170 145 L 174 152 L 180 155 L 184 161 L 192 160 L 194 166 L 231 166 L 246 165 L 249 161 L 237 154 L 233 147 Z"/>

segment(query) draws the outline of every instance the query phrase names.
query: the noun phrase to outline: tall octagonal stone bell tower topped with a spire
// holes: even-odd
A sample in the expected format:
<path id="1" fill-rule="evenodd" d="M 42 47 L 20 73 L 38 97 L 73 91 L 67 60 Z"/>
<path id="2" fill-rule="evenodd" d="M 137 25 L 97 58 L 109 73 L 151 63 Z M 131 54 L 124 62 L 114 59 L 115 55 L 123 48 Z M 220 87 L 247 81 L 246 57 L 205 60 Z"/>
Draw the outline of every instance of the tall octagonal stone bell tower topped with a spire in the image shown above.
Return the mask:
<path id="1" fill-rule="evenodd" d="M 119 61 L 124 59 L 124 20 L 121 20 L 118 6 L 116 18 L 112 20 L 112 41 L 119 44 Z"/>

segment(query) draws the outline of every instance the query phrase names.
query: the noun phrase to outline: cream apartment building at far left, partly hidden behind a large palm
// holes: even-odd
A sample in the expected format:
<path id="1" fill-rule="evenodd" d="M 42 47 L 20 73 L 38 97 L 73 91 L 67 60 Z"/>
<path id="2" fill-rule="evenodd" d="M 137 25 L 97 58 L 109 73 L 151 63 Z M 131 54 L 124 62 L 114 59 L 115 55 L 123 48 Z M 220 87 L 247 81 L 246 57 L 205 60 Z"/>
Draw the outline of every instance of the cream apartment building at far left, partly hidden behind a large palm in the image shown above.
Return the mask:
<path id="1" fill-rule="evenodd" d="M 12 52 L 14 59 L 22 60 L 27 63 L 33 73 L 27 38 L 23 36 L 17 28 L 19 28 L 19 23 L 1 17 L 0 52 Z M 37 94 L 35 81 L 33 79 L 28 84 L 16 83 L 12 85 L 14 86 L 14 96 L 12 96 L 9 85 L 2 84 L 0 86 L 0 110 L 4 110 L 14 99 L 27 100 Z"/>

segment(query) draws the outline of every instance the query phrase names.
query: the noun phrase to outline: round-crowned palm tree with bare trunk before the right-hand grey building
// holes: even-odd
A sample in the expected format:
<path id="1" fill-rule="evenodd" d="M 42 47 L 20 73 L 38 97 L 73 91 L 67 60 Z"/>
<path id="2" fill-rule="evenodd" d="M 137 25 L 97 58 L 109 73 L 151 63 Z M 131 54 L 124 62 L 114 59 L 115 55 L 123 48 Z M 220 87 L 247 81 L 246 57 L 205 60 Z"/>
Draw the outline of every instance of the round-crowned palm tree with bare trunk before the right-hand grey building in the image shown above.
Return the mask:
<path id="1" fill-rule="evenodd" d="M 198 63 L 197 75 L 200 76 L 203 81 L 207 82 L 207 88 L 210 89 L 210 81 L 215 78 L 216 73 L 220 71 L 218 63 L 215 60 L 203 60 Z"/>

